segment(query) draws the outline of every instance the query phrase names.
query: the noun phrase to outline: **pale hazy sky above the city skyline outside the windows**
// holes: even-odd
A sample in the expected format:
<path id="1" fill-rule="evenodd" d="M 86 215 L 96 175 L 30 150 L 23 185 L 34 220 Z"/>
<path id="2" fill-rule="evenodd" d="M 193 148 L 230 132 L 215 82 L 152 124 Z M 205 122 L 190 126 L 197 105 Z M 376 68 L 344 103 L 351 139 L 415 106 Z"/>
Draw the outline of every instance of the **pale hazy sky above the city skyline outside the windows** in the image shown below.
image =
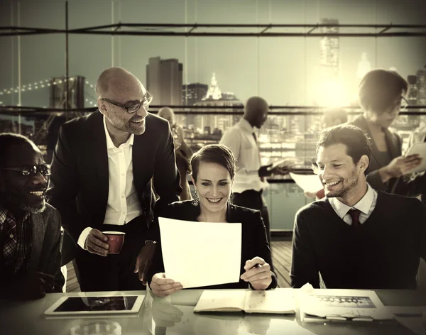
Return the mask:
<path id="1" fill-rule="evenodd" d="M 426 24 L 425 0 L 70 0 L 70 28 L 110 23 L 318 23 Z M 0 1 L 0 26 L 65 28 L 65 1 Z M 236 38 L 70 35 L 70 75 L 94 84 L 111 66 L 146 82 L 149 57 L 178 58 L 184 83 L 208 84 L 216 73 L 222 92 L 245 101 L 253 95 L 272 105 L 310 105 L 320 92 L 320 38 Z M 18 38 L 0 37 L 0 92 L 18 85 Z M 426 65 L 426 38 L 339 38 L 339 86 L 351 95 L 366 53 L 371 67 L 395 67 L 400 75 Z M 65 75 L 65 35 L 20 38 L 21 83 Z M 186 60 L 186 61 L 185 61 Z M 92 89 L 88 91 L 94 96 Z M 322 89 L 324 91 L 324 88 Z M 338 95 L 339 92 L 336 92 Z M 48 105 L 48 89 L 23 92 L 24 106 Z M 17 94 L 0 96 L 16 104 Z"/>

